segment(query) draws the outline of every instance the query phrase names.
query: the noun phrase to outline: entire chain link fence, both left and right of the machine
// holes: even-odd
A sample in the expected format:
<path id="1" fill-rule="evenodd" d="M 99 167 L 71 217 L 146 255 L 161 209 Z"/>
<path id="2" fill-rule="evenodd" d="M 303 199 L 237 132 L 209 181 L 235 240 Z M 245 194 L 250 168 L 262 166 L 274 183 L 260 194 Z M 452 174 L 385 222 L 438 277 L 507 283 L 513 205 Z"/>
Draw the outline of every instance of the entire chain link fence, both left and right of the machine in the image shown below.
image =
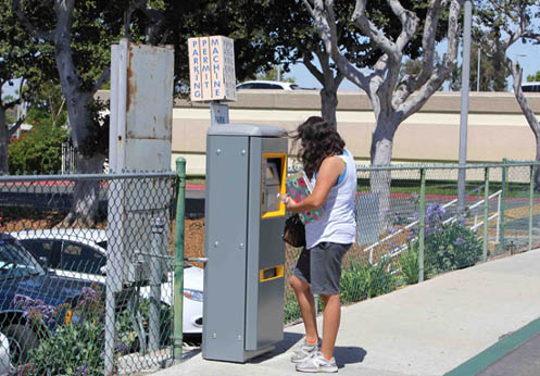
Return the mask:
<path id="1" fill-rule="evenodd" d="M 455 165 L 359 166 L 342 303 L 539 247 L 537 166 L 467 165 L 463 188 Z M 0 374 L 171 364 L 175 326 L 202 326 L 196 267 L 184 270 L 184 321 L 173 319 L 177 184 L 172 173 L 0 177 Z M 299 253 L 287 247 L 286 278 Z M 299 318 L 286 284 L 285 321 Z"/>

